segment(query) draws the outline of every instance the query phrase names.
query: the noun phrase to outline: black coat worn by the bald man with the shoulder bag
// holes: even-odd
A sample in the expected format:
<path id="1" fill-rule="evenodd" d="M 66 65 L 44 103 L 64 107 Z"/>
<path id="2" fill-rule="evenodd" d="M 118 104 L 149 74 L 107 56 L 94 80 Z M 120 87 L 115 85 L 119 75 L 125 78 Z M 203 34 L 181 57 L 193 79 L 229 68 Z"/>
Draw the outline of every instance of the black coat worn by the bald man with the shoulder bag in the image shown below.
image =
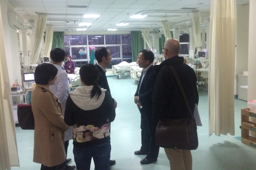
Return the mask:
<path id="1" fill-rule="evenodd" d="M 168 65 L 172 65 L 176 70 L 192 112 L 195 103 L 198 104 L 197 77 L 194 70 L 183 61 L 183 57 L 174 56 L 157 67 L 157 80 L 152 94 L 155 119 L 191 117 L 176 78 Z"/>

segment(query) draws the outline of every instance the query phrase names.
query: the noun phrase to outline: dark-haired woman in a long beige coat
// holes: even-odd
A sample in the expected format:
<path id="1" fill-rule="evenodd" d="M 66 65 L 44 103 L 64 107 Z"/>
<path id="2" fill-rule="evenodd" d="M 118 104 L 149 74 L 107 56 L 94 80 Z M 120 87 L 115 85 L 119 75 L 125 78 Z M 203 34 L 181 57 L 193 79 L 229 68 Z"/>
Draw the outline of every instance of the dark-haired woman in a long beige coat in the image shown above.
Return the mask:
<path id="1" fill-rule="evenodd" d="M 35 70 L 37 86 L 31 93 L 31 106 L 35 119 L 34 158 L 41 170 L 65 169 L 64 132 L 69 128 L 62 116 L 62 107 L 49 86 L 56 81 L 58 69 L 44 63 Z"/>

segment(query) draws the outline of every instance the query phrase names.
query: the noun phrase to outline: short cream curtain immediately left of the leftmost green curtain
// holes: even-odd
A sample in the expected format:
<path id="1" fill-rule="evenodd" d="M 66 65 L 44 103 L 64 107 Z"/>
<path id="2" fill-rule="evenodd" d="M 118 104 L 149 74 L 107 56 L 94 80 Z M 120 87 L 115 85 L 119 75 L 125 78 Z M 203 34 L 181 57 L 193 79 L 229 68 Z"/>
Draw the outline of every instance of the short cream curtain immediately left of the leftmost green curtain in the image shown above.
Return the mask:
<path id="1" fill-rule="evenodd" d="M 46 25 L 44 56 L 50 56 L 53 45 L 53 25 Z"/>

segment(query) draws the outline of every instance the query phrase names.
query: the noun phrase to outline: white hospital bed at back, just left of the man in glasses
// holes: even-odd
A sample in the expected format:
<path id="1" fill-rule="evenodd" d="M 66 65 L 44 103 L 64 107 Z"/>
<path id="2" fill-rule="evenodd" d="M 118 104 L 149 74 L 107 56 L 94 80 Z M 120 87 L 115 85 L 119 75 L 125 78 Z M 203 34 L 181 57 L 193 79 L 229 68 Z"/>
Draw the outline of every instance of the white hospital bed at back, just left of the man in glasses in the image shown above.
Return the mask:
<path id="1" fill-rule="evenodd" d="M 136 62 L 128 63 L 123 61 L 119 64 L 112 65 L 112 72 L 117 76 L 117 78 L 121 79 L 121 77 L 130 77 L 131 75 L 131 66 Z"/>

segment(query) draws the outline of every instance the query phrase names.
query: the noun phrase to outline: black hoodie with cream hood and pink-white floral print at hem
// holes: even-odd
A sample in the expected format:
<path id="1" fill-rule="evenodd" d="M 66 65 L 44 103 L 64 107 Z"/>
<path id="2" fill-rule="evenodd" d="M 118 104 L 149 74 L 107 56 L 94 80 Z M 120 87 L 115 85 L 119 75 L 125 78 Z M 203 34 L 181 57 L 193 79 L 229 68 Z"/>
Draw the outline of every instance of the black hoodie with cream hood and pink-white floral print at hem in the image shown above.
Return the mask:
<path id="1" fill-rule="evenodd" d="M 73 144 L 79 147 L 110 140 L 110 122 L 116 116 L 112 97 L 107 90 L 101 88 L 102 94 L 91 98 L 92 88 L 80 86 L 67 98 L 64 121 L 73 126 Z"/>

